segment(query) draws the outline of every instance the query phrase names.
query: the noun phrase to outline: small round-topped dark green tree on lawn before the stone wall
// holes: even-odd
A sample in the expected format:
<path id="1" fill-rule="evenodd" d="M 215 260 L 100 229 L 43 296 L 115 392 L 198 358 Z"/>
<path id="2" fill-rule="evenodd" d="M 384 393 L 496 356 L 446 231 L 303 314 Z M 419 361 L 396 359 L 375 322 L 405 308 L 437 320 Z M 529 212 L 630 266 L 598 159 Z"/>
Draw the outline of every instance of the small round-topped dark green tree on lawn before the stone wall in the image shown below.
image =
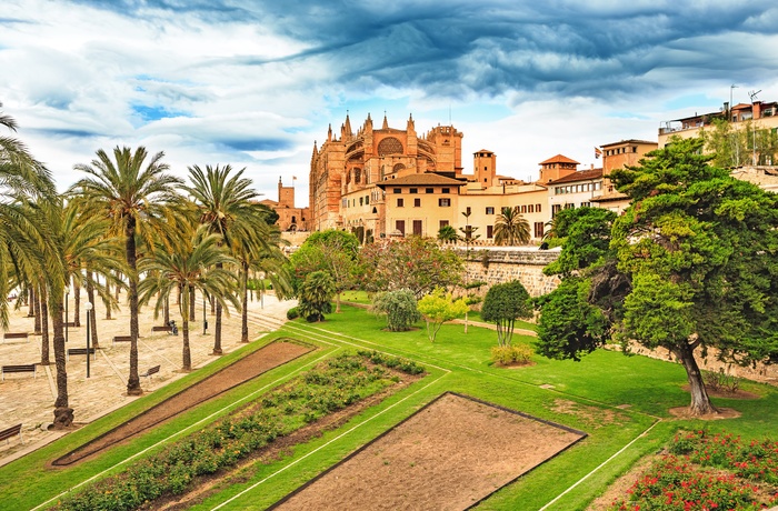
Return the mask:
<path id="1" fill-rule="evenodd" d="M 510 345 L 517 319 L 531 317 L 532 305 L 529 293 L 518 280 L 495 284 L 487 291 L 481 307 L 481 318 L 497 325 L 499 345 Z"/>

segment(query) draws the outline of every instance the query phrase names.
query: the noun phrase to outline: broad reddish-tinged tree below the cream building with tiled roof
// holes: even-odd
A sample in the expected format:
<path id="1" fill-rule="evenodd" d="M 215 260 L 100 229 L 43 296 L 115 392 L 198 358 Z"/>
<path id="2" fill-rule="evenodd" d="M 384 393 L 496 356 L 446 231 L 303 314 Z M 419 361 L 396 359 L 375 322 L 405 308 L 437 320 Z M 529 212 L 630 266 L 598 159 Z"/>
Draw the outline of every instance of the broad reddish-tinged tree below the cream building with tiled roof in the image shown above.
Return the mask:
<path id="1" fill-rule="evenodd" d="M 465 271 L 461 258 L 431 238 L 385 240 L 362 247 L 359 255 L 366 290 L 409 289 L 417 299 L 435 288 L 457 285 Z"/>

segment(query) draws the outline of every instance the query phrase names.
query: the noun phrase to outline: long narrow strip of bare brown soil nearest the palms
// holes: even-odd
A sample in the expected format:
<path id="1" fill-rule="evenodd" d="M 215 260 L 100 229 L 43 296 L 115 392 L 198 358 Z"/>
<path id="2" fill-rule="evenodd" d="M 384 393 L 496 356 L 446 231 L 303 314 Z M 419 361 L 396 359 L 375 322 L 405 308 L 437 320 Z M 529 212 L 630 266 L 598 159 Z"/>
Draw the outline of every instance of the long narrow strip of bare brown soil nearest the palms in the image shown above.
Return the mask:
<path id="1" fill-rule="evenodd" d="M 273 368 L 285 364 L 312 350 L 312 347 L 293 342 L 272 342 L 245 357 L 221 371 L 194 383 L 192 387 L 162 401 L 142 414 L 124 422 L 106 434 L 54 460 L 54 467 L 66 467 L 82 461 L 103 449 L 122 442 L 140 432 L 196 407 L 222 392 L 245 383 Z"/>

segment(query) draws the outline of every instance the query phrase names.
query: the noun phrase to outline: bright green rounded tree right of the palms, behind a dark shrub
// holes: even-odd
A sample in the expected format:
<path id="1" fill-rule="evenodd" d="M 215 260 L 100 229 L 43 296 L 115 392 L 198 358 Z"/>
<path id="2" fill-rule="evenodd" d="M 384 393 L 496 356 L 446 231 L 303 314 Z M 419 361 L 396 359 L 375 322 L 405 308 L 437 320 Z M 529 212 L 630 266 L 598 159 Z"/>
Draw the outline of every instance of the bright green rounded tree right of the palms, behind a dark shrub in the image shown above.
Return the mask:
<path id="1" fill-rule="evenodd" d="M 326 271 L 332 278 L 336 289 L 335 312 L 340 312 L 340 294 L 351 289 L 356 281 L 359 240 L 347 231 L 329 229 L 317 231 L 308 237 L 289 258 L 289 265 L 301 282 L 313 271 Z"/>

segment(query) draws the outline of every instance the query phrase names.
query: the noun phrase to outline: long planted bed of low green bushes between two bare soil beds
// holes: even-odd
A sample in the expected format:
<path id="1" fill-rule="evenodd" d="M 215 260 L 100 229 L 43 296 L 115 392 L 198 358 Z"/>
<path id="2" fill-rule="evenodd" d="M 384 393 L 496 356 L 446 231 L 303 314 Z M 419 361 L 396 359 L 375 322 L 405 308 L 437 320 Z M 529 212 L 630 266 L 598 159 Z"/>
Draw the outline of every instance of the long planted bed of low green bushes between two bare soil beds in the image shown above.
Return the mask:
<path id="1" fill-rule="evenodd" d="M 387 368 L 423 372 L 415 362 L 377 352 L 343 353 L 123 472 L 62 499 L 53 509 L 133 510 L 166 494 L 183 493 L 198 475 L 235 467 L 276 438 L 393 384 L 398 378 Z"/>

